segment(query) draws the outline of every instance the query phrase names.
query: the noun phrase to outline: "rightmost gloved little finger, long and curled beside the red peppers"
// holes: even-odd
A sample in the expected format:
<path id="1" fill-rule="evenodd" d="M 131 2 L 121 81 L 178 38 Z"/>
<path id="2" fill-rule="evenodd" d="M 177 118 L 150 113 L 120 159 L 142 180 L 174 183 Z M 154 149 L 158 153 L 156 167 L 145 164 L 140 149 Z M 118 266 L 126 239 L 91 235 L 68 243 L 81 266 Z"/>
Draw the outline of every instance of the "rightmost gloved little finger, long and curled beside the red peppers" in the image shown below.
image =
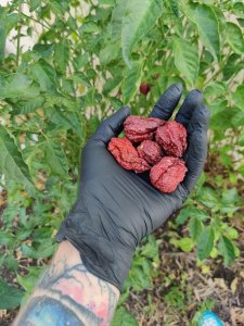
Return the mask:
<path id="1" fill-rule="evenodd" d="M 207 158 L 207 129 L 209 117 L 209 109 L 206 105 L 201 104 L 195 109 L 188 126 L 189 148 L 184 158 L 188 166 L 188 174 L 183 180 L 183 186 L 188 191 L 192 191 L 195 186 Z"/>

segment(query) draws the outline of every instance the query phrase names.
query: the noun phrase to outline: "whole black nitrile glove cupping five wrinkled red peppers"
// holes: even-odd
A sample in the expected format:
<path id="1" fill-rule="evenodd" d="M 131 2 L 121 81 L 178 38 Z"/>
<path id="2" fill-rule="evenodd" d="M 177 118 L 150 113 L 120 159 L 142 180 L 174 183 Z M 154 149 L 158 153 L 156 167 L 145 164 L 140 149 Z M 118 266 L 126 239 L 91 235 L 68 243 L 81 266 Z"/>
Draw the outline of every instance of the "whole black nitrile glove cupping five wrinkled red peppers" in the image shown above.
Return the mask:
<path id="1" fill-rule="evenodd" d="M 151 116 L 168 120 L 182 86 L 169 87 Z M 107 151 L 130 114 L 127 106 L 101 123 L 81 158 L 81 179 L 76 203 L 63 222 L 57 242 L 67 239 L 80 252 L 87 269 L 119 290 L 128 275 L 140 240 L 182 206 L 198 179 L 207 155 L 209 110 L 198 90 L 191 91 L 176 121 L 188 129 L 188 174 L 172 193 L 156 190 L 143 175 L 124 170 Z"/>

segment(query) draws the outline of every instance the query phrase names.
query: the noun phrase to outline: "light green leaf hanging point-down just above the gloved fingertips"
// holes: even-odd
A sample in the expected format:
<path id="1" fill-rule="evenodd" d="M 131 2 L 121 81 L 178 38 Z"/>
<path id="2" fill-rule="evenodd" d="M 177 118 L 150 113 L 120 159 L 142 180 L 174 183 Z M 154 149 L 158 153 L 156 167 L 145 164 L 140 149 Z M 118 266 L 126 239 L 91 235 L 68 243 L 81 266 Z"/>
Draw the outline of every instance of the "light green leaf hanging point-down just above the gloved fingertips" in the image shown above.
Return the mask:
<path id="1" fill-rule="evenodd" d="M 191 85 L 194 85 L 200 68 L 197 49 L 182 38 L 175 38 L 172 51 L 176 67 Z"/>

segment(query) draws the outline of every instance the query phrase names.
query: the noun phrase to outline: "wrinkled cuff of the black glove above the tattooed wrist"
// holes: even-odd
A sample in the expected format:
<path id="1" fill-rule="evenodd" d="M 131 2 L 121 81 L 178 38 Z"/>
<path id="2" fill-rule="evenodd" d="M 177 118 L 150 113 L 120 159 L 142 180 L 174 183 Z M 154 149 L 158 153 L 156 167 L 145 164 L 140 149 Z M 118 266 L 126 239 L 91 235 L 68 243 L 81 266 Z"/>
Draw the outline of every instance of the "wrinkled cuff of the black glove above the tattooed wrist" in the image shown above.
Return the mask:
<path id="1" fill-rule="evenodd" d="M 62 223 L 55 239 L 57 243 L 68 240 L 79 251 L 84 265 L 91 274 L 121 291 L 132 262 L 133 252 L 129 248 L 118 249 L 115 243 L 86 227 L 77 229 L 70 215 Z"/>

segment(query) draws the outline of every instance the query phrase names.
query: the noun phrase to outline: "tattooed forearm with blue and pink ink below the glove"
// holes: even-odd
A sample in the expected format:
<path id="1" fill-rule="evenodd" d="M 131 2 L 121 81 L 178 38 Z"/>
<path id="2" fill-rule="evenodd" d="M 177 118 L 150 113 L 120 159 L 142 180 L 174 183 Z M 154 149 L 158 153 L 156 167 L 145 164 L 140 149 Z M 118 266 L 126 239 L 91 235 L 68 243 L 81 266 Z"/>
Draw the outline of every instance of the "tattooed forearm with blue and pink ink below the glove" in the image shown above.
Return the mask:
<path id="1" fill-rule="evenodd" d="M 61 244 L 15 326 L 110 324 L 118 290 L 90 274 L 77 252 L 70 255 L 70 249 L 75 250 L 68 242 Z"/>

